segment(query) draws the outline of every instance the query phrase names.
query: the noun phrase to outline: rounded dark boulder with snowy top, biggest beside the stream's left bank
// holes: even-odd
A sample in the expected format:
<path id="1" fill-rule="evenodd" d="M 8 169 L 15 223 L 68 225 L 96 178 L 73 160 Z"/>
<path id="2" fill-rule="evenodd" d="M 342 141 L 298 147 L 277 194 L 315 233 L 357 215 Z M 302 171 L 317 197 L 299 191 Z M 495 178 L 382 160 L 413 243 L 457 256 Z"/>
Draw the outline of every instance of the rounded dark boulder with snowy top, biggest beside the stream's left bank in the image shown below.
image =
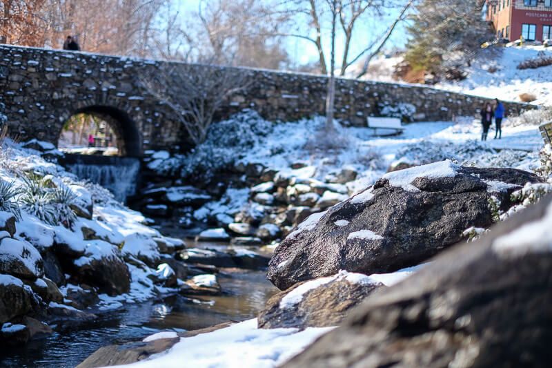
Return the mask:
<path id="1" fill-rule="evenodd" d="M 103 240 L 90 240 L 86 252 L 74 262 L 75 275 L 86 284 L 110 296 L 128 293 L 130 272 L 117 246 Z"/>

